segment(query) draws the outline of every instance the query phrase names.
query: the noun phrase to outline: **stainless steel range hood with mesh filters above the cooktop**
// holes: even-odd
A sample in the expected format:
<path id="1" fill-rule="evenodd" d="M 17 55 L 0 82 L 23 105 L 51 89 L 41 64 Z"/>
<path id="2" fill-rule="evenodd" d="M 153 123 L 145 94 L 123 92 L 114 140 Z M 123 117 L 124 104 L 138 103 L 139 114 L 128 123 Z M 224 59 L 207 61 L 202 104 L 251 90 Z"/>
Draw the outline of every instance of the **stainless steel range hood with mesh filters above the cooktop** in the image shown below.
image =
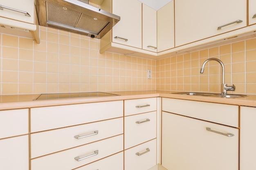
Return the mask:
<path id="1" fill-rule="evenodd" d="M 84 1 L 36 0 L 39 25 L 100 39 L 119 22 L 120 17 Z"/>

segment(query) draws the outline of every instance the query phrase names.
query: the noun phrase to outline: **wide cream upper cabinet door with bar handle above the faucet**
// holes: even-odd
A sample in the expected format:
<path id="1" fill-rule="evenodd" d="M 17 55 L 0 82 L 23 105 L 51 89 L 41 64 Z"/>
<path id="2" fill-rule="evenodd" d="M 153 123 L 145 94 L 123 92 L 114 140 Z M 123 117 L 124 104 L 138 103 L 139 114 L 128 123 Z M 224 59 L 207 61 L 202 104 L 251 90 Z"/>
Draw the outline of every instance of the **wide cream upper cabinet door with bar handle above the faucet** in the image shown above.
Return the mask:
<path id="1" fill-rule="evenodd" d="M 175 46 L 247 26 L 246 8 L 247 0 L 175 0 Z"/>

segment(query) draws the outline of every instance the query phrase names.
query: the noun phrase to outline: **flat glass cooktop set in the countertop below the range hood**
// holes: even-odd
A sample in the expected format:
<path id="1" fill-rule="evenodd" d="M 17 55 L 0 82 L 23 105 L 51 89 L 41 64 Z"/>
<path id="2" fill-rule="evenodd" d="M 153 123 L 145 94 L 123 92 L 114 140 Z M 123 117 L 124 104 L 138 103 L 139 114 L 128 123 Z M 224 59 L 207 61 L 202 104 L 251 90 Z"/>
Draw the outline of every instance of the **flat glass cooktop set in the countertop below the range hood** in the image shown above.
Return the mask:
<path id="1" fill-rule="evenodd" d="M 47 100 L 47 99 L 65 99 L 65 98 L 74 98 L 74 97 L 103 97 L 103 96 L 116 96 L 111 93 L 103 92 L 85 92 L 85 93 L 49 93 L 41 94 L 34 100 Z"/>

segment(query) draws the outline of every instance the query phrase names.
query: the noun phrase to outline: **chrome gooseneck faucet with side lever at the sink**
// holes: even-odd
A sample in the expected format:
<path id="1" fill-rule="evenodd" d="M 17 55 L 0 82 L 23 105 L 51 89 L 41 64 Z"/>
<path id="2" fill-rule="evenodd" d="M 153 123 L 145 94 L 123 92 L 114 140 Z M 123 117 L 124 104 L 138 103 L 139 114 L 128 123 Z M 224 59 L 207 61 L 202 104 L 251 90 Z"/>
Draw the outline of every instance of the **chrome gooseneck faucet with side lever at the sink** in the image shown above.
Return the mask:
<path id="1" fill-rule="evenodd" d="M 205 62 L 202 64 L 200 73 L 201 74 L 204 73 L 205 64 L 211 60 L 215 60 L 215 61 L 219 62 L 222 67 L 221 95 L 227 95 L 227 91 L 235 91 L 236 86 L 234 84 L 232 86 L 228 86 L 227 84 L 225 84 L 225 67 L 224 67 L 224 64 L 222 63 L 222 61 L 220 61 L 218 58 L 209 58 L 208 60 L 205 60 Z"/>

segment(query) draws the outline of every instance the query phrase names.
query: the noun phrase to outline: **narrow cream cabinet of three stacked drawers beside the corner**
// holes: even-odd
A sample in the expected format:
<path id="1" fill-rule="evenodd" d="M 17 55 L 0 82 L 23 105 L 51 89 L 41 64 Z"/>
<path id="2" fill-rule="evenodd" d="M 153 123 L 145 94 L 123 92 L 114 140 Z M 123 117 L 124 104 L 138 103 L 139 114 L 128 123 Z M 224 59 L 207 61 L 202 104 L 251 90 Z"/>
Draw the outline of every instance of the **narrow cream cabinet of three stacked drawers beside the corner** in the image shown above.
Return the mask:
<path id="1" fill-rule="evenodd" d="M 124 170 L 148 170 L 157 163 L 157 98 L 124 101 Z"/>

